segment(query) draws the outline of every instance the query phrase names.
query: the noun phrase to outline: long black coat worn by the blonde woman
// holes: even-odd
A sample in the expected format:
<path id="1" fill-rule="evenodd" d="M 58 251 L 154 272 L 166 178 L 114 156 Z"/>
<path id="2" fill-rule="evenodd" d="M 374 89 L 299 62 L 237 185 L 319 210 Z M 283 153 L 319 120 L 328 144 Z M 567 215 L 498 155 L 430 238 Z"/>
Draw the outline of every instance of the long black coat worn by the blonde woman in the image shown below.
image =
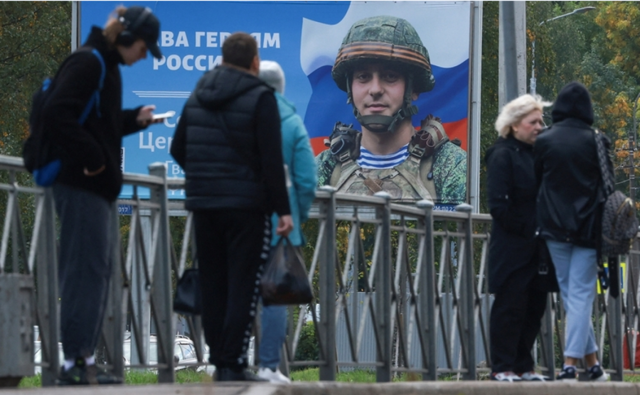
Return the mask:
<path id="1" fill-rule="evenodd" d="M 536 239 L 536 178 L 532 146 L 513 138 L 498 138 L 485 156 L 489 209 L 493 218 L 489 243 L 489 291 L 516 270 L 523 286 L 538 273 Z"/>

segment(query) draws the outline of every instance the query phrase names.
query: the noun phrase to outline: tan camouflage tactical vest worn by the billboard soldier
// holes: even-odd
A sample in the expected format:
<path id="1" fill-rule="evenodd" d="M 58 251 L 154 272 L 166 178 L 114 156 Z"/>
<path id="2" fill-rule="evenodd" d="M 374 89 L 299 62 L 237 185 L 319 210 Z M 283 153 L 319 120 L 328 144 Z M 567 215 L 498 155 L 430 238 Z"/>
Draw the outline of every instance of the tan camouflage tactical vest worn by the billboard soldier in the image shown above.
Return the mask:
<path id="1" fill-rule="evenodd" d="M 362 133 L 337 122 L 325 145 L 335 158 L 330 184 L 337 191 L 356 195 L 373 195 L 387 191 L 396 202 L 437 198 L 433 180 L 435 153 L 449 141 L 440 118 L 429 115 L 422 121 L 408 147 L 409 156 L 400 165 L 387 169 L 362 168 L 356 163 L 360 157 Z"/>

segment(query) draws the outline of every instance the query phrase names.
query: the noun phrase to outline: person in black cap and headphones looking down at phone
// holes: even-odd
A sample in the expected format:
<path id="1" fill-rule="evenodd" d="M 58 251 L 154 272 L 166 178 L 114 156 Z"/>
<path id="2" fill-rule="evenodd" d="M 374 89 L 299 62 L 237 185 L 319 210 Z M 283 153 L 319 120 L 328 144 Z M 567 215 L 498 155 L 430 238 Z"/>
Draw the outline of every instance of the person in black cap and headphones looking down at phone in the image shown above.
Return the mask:
<path id="1" fill-rule="evenodd" d="M 121 383 L 99 371 L 93 354 L 102 327 L 118 229 L 122 137 L 152 124 L 154 106 L 122 109 L 120 65 L 162 54 L 160 22 L 148 8 L 119 7 L 106 27 L 93 26 L 56 74 L 42 117 L 52 145 L 65 154 L 53 194 L 60 218 L 60 332 L 65 364 L 58 385 Z M 95 95 L 95 96 L 94 96 Z M 92 101 L 95 105 L 88 106 Z M 80 122 L 89 109 L 84 122 Z"/>

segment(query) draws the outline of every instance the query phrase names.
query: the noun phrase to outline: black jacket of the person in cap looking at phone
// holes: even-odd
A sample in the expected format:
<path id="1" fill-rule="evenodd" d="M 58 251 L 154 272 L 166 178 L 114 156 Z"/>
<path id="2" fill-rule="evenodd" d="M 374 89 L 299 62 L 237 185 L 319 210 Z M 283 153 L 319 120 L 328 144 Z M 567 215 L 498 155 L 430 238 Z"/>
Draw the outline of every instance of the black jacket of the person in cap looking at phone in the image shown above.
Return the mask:
<path id="1" fill-rule="evenodd" d="M 98 88 L 102 71 L 97 56 L 91 53 L 93 48 L 102 54 L 106 67 L 100 115 L 92 109 L 80 125 L 78 119 Z M 122 62 L 120 52 L 109 48 L 102 29 L 94 26 L 84 45 L 61 66 L 56 86 L 42 108 L 49 127 L 47 133 L 64 152 L 56 182 L 92 191 L 109 202 L 116 200 L 122 188 L 122 136 L 143 129 L 136 122 L 140 108 L 122 109 Z M 84 175 L 84 168 L 95 171 L 103 165 L 105 169 L 98 175 Z"/>

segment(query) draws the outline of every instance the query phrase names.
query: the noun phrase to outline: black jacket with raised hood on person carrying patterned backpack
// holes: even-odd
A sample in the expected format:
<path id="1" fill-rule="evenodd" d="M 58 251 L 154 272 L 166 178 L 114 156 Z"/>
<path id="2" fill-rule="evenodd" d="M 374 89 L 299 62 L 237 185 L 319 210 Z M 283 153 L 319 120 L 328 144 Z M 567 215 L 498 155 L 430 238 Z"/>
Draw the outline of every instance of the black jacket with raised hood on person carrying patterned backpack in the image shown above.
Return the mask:
<path id="1" fill-rule="evenodd" d="M 596 248 L 604 197 L 588 90 L 564 86 L 551 114 L 554 124 L 534 145 L 541 236 Z"/>

